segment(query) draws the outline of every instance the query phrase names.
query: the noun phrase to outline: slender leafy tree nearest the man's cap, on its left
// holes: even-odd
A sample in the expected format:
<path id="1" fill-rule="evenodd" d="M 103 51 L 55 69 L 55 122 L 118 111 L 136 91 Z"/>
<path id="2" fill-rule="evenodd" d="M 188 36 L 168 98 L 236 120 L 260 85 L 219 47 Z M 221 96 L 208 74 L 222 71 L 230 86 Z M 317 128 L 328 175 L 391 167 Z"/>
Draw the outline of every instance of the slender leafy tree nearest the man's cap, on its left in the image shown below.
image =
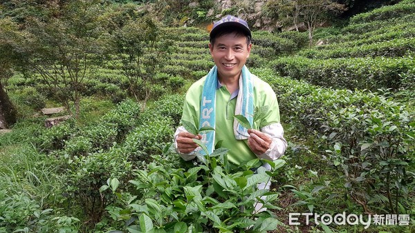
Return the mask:
<path id="1" fill-rule="evenodd" d="M 163 39 L 163 28 L 151 15 L 131 14 L 131 6 L 118 9 L 118 13 L 130 12 L 122 24 L 111 32 L 116 58 L 121 61 L 121 69 L 129 80 L 129 94 L 137 101 L 143 101 L 145 108 L 151 98 L 156 74 L 169 59 L 171 41 Z M 118 17 L 115 17 L 118 19 Z"/>

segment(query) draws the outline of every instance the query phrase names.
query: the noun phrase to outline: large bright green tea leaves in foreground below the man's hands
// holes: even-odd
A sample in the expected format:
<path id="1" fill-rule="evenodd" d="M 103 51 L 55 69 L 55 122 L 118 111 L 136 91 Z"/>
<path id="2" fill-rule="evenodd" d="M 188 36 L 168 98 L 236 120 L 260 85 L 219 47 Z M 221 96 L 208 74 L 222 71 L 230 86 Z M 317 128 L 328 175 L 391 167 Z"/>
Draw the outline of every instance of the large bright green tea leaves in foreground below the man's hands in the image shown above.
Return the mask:
<path id="1" fill-rule="evenodd" d="M 259 168 L 254 173 L 251 169 L 258 159 L 232 170 L 226 150 L 221 149 L 208 156 L 207 165 L 189 169 L 177 168 L 174 159 L 172 164 L 175 154 L 165 156 L 149 163 L 145 170 L 136 170 L 130 183 L 142 198 L 133 196 L 113 214 L 116 219 L 125 219 L 123 230 L 266 232 L 280 224 L 269 211 L 254 212 L 257 201 L 268 209 L 277 208 L 271 204 L 277 194 L 255 188 L 277 175 L 284 161 L 267 162 L 272 172 Z"/>

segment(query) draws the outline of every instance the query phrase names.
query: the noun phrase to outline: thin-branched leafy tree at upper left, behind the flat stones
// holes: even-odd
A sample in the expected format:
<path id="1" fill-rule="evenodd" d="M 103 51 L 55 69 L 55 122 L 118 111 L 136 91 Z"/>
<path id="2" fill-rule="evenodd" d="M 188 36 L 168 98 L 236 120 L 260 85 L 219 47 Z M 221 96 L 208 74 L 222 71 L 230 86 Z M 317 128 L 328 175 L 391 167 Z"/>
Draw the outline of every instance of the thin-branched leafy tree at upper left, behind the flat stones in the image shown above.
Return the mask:
<path id="1" fill-rule="evenodd" d="M 98 0 L 43 7 L 48 14 L 24 20 L 24 37 L 15 38 L 21 43 L 14 43 L 13 50 L 22 59 L 18 65 L 38 74 L 53 97 L 79 117 L 84 79 L 107 48 L 98 24 L 104 8 Z"/>

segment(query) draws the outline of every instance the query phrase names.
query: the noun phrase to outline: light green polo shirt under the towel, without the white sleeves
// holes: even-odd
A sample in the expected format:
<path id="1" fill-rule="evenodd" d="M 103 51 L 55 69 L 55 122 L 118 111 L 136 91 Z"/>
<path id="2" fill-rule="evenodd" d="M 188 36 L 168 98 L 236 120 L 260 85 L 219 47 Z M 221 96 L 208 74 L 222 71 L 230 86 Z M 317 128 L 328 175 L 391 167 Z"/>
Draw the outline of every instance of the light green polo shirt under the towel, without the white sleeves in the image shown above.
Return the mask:
<path id="1" fill-rule="evenodd" d="M 200 106 L 205 79 L 206 77 L 199 79 L 187 90 L 182 120 L 193 122 L 194 118 L 192 116 L 200 119 Z M 268 112 L 254 122 L 253 128 L 260 130 L 266 125 L 279 123 L 278 101 L 275 92 L 268 83 L 253 74 L 252 79 L 254 81 L 254 109 L 268 106 Z M 257 156 L 248 147 L 247 140 L 235 139 L 233 123 L 236 103 L 237 98 L 231 99 L 231 93 L 228 92 L 225 85 L 216 89 L 215 144 L 218 141 L 222 141 L 222 147 L 229 149 L 229 161 L 239 165 L 244 161 L 256 159 Z M 195 122 L 195 125 L 199 125 L 199 122 Z"/>

